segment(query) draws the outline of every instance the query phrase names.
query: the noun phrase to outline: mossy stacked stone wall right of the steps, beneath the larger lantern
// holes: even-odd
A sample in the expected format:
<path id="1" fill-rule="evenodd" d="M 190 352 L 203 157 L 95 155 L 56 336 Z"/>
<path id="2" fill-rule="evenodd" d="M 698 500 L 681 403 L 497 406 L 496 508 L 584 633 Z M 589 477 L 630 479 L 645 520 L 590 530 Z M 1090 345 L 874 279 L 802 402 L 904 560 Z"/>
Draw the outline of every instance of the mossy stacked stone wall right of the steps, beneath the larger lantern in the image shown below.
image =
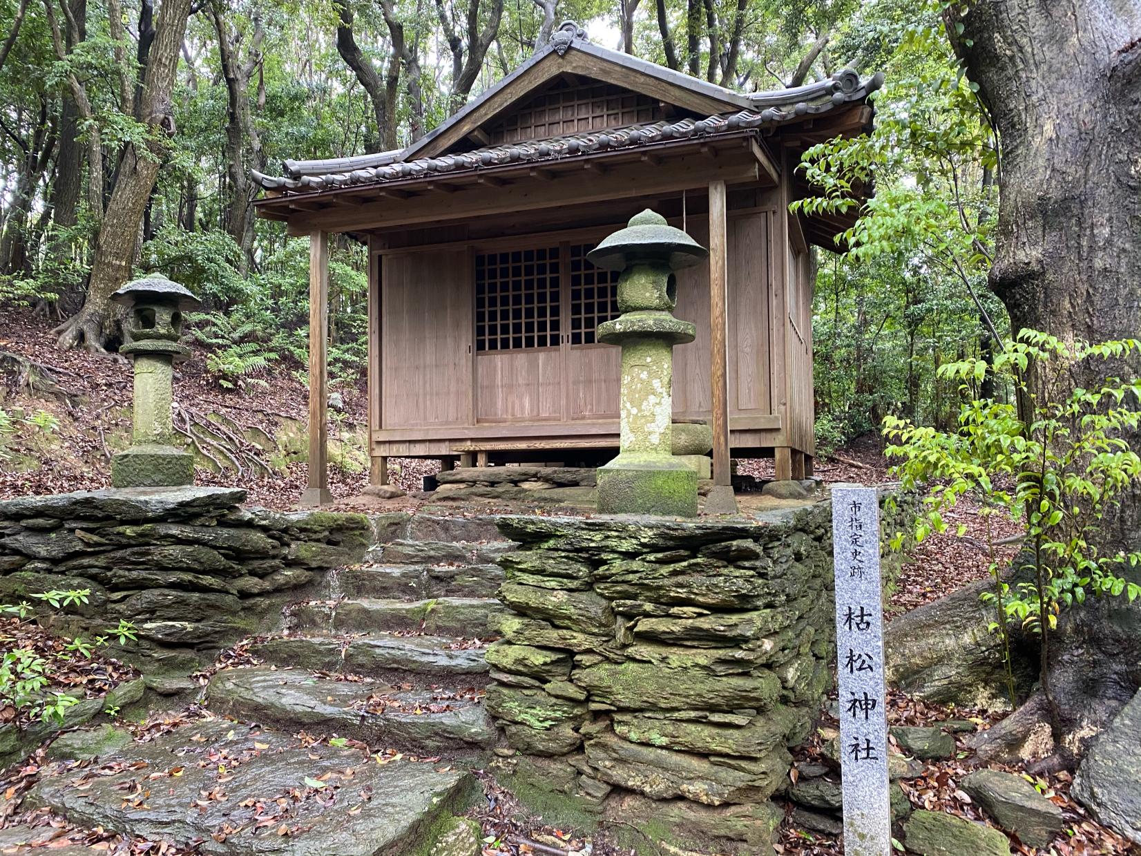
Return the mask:
<path id="1" fill-rule="evenodd" d="M 487 651 L 504 783 L 556 821 L 653 838 L 670 817 L 675 846 L 770 851 L 768 799 L 833 681 L 831 504 L 500 530 L 519 542 Z"/>

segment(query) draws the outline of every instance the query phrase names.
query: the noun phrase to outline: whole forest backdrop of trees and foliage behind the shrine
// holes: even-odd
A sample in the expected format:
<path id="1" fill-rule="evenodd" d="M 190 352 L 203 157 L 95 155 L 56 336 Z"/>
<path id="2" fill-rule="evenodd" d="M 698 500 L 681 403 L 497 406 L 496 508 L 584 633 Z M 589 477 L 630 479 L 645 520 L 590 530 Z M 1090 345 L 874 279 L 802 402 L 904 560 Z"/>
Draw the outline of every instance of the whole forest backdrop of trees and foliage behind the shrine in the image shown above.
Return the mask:
<path id="1" fill-rule="evenodd" d="M 882 71 L 871 136 L 825 144 L 806 205 L 875 196 L 820 252 L 815 304 L 825 447 L 897 413 L 946 425 L 939 365 L 1006 334 L 986 289 L 995 135 L 944 29 L 912 0 L 3 0 L 0 300 L 49 314 L 60 344 L 114 349 L 105 297 L 163 270 L 204 302 L 218 383 L 306 360 L 307 248 L 254 217 L 251 170 L 407 145 L 510 73 L 563 19 L 721 86 Z M 333 371 L 364 357 L 365 253 L 331 267 Z M 986 381 L 984 381 L 986 382 Z"/>

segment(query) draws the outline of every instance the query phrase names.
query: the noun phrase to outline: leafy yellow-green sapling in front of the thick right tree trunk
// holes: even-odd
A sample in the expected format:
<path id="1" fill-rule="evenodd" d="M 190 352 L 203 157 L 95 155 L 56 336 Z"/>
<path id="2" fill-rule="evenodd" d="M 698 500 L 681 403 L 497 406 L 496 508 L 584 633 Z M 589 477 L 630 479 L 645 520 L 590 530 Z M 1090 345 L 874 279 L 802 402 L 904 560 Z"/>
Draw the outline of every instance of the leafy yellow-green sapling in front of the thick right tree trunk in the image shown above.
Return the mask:
<path id="1" fill-rule="evenodd" d="M 1141 458 L 1126 436 L 1141 425 L 1141 380 L 1101 377 L 1091 388 L 1077 377 L 1100 375 L 1097 364 L 1118 364 L 1135 354 L 1134 339 L 1090 344 L 1065 341 L 1023 330 L 990 361 L 964 360 L 941 373 L 964 386 L 988 374 L 1015 391 L 1019 406 L 971 398 L 960 409 L 954 431 L 916 426 L 889 417 L 888 455 L 905 488 L 928 485 L 916 536 L 944 532 L 942 511 L 964 494 L 979 499 L 987 520 L 990 571 L 998 630 L 1008 639 L 1008 621 L 1043 636 L 1063 608 L 1091 595 L 1125 596 L 1131 603 L 1141 586 L 1126 579 L 1141 554 L 1110 549 L 1101 522 L 1141 482 Z M 1030 579 L 1014 587 L 1003 581 L 989 536 L 995 514 L 1026 527 L 1020 563 Z M 960 532 L 962 534 L 962 532 Z M 1009 649 L 1008 649 L 1009 657 Z M 1044 660 L 1045 662 L 1045 660 Z"/>

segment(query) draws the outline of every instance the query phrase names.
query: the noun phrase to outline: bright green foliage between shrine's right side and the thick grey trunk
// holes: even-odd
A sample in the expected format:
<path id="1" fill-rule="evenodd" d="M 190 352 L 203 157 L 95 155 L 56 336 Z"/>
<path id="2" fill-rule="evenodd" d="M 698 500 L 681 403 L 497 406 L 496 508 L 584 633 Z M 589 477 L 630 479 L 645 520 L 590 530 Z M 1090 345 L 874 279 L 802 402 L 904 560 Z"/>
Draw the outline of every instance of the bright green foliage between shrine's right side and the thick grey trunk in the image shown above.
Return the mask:
<path id="1" fill-rule="evenodd" d="M 885 73 L 875 129 L 809 148 L 803 212 L 858 215 L 826 256 L 814 302 L 818 415 L 868 429 L 887 414 L 949 426 L 960 404 L 944 363 L 1005 338 L 986 285 L 997 210 L 988 116 L 947 45 L 939 2 L 865 3 L 836 49 Z M 874 180 L 875 195 L 856 197 Z M 1004 390 L 998 390 L 1002 394 Z"/>

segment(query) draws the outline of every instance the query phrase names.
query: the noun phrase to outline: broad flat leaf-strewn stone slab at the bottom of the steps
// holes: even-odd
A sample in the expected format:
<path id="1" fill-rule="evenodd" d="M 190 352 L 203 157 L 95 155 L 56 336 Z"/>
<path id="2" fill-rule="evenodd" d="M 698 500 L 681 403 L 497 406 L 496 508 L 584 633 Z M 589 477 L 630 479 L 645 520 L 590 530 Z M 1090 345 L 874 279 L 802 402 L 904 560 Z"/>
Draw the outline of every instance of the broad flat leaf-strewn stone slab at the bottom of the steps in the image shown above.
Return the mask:
<path id="1" fill-rule="evenodd" d="M 478 793 L 446 762 L 381 765 L 356 749 L 192 719 L 82 769 L 44 769 L 22 808 L 210 856 L 373 856 L 428 853 L 428 830 Z"/>

